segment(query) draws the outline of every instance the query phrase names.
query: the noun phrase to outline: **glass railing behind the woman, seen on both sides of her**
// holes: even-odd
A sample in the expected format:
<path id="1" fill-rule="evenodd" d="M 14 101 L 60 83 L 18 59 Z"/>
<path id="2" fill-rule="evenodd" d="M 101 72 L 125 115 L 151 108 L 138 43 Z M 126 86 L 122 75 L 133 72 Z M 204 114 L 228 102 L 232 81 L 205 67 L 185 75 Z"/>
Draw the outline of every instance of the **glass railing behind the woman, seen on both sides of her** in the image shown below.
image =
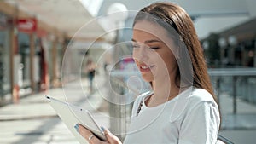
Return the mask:
<path id="1" fill-rule="evenodd" d="M 212 80 L 212 85 L 215 93 L 218 96 L 218 102 L 222 113 L 222 129 L 236 129 L 247 127 L 247 122 L 256 116 L 256 68 L 214 68 L 209 69 L 208 73 Z M 125 100 L 125 97 L 136 98 L 137 95 L 148 90 L 147 83 L 140 79 L 139 72 L 121 72 L 113 71 L 109 77 L 111 85 L 111 96 L 115 95 L 120 103 L 111 103 L 109 113 L 113 120 L 110 120 L 110 129 L 118 135 L 121 140 L 125 138 L 125 132 L 128 130 L 131 118 L 132 100 Z M 139 83 L 137 83 L 139 82 Z M 139 88 L 138 88 L 139 87 Z M 130 101 L 130 102 L 129 102 Z M 242 105 L 248 105 L 244 108 Z M 250 107 L 252 111 L 247 111 Z M 226 108 L 228 107 L 228 108 Z M 237 111 L 237 107 L 242 107 L 243 110 Z M 254 110 L 255 109 L 255 110 Z M 254 112 L 255 111 L 255 112 Z M 245 113 L 250 115 L 246 115 Z M 242 117 L 240 115 L 242 114 Z M 246 120 L 244 121 L 244 118 Z M 238 121 L 236 122 L 236 120 Z M 250 122 L 251 123 L 251 122 Z M 250 125 L 250 124 L 249 124 Z M 256 125 L 252 122 L 251 125 Z"/>

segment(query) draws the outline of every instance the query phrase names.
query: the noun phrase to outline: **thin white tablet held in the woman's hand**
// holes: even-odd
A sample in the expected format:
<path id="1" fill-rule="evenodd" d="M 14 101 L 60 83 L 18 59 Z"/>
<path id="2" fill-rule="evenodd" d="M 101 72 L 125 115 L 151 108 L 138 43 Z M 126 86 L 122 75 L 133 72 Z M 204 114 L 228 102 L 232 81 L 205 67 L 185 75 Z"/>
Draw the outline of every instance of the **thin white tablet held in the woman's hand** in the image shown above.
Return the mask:
<path id="1" fill-rule="evenodd" d="M 56 100 L 48 95 L 45 96 L 49 101 L 51 107 L 55 109 L 61 120 L 67 125 L 67 128 L 73 133 L 77 140 L 82 144 L 86 140 L 74 128 L 75 124 L 82 124 L 85 128 L 90 130 L 96 137 L 102 141 L 106 141 L 106 137 L 102 130 L 96 124 L 89 111 L 80 107 L 75 107 L 64 101 Z"/>

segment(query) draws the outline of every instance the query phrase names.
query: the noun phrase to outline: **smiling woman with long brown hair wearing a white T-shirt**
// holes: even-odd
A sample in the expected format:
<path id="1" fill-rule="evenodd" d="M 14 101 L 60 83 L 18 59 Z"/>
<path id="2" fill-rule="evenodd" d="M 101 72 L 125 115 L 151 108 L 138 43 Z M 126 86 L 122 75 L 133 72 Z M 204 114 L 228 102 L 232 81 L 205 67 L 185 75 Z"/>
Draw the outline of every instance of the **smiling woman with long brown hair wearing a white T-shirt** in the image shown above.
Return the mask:
<path id="1" fill-rule="evenodd" d="M 189 15 L 176 4 L 153 3 L 138 12 L 132 43 L 133 58 L 153 92 L 134 102 L 124 143 L 215 143 L 218 105 Z M 93 144 L 121 143 L 108 130 L 108 141 L 80 124 L 78 131 Z"/>

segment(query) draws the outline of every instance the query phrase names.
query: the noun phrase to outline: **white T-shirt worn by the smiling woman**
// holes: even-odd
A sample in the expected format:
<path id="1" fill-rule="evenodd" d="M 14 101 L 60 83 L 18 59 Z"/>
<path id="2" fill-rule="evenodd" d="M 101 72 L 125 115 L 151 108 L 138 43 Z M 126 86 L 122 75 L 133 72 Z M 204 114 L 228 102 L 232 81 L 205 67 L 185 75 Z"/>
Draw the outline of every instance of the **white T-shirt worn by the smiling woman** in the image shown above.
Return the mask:
<path id="1" fill-rule="evenodd" d="M 220 123 L 218 105 L 205 89 L 190 87 L 157 107 L 144 103 L 152 93 L 137 97 L 124 144 L 212 144 Z M 137 109 L 143 101 L 141 111 Z"/>

